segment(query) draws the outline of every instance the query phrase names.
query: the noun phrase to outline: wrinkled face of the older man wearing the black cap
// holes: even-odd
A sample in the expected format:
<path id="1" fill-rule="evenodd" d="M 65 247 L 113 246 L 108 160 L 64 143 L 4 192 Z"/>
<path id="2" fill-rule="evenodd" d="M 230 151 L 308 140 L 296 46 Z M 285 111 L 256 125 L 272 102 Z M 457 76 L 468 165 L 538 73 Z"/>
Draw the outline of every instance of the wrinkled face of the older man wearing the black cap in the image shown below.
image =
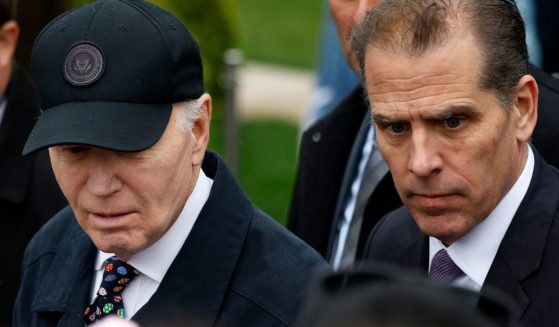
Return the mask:
<path id="1" fill-rule="evenodd" d="M 145 151 L 49 149 L 56 179 L 98 249 L 128 260 L 157 241 L 180 214 L 205 146 L 200 147 L 199 128 L 181 130 L 178 114 L 174 108 L 161 139 Z"/>

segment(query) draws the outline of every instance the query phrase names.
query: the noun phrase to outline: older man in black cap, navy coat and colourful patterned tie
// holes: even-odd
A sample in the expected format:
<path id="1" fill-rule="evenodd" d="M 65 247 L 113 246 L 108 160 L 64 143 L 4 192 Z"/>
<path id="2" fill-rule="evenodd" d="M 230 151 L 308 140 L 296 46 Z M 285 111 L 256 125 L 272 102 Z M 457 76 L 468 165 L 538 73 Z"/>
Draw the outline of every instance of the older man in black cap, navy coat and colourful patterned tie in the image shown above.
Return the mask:
<path id="1" fill-rule="evenodd" d="M 291 325 L 323 261 L 206 152 L 211 99 L 182 23 L 95 2 L 51 22 L 32 62 L 43 114 L 24 152 L 49 148 L 70 207 L 27 248 L 14 324 Z"/>

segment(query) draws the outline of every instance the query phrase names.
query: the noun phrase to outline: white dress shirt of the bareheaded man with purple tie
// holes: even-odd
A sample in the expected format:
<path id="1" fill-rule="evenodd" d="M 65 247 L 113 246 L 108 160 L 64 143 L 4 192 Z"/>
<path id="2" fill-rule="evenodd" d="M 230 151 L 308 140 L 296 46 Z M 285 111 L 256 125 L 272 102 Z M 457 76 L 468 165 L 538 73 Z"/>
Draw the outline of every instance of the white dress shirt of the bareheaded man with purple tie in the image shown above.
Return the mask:
<path id="1" fill-rule="evenodd" d="M 448 248 L 438 239 L 429 237 L 429 267 L 435 254 L 440 249 L 446 249 L 465 274 L 452 284 L 479 291 L 516 210 L 528 191 L 533 172 L 534 153 L 528 146 L 528 159 L 520 177 L 487 218 Z"/>

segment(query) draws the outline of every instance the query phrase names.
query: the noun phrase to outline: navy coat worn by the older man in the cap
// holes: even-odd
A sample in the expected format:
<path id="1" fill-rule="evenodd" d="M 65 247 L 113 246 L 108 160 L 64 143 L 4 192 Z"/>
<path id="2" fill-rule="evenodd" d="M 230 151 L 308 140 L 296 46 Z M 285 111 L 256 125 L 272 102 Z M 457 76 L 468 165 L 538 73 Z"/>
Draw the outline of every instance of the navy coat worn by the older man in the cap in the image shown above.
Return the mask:
<path id="1" fill-rule="evenodd" d="M 132 319 L 146 326 L 288 326 L 322 258 L 255 208 L 217 156 L 203 170 L 210 196 L 148 303 Z M 26 250 L 16 326 L 80 326 L 96 248 L 70 208 Z M 126 300 L 126 299 L 124 299 Z"/>

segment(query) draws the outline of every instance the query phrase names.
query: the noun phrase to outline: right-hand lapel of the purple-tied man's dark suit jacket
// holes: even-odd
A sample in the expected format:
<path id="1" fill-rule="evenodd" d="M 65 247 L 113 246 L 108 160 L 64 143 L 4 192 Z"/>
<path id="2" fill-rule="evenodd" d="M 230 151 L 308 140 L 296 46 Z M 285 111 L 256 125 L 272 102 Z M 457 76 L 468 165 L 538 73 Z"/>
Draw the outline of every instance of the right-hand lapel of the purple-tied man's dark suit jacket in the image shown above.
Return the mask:
<path id="1" fill-rule="evenodd" d="M 557 174 L 534 150 L 535 167 L 522 200 L 482 288 L 497 288 L 518 304 L 519 317 L 528 307 L 523 282 L 539 270 L 559 199 Z"/>

